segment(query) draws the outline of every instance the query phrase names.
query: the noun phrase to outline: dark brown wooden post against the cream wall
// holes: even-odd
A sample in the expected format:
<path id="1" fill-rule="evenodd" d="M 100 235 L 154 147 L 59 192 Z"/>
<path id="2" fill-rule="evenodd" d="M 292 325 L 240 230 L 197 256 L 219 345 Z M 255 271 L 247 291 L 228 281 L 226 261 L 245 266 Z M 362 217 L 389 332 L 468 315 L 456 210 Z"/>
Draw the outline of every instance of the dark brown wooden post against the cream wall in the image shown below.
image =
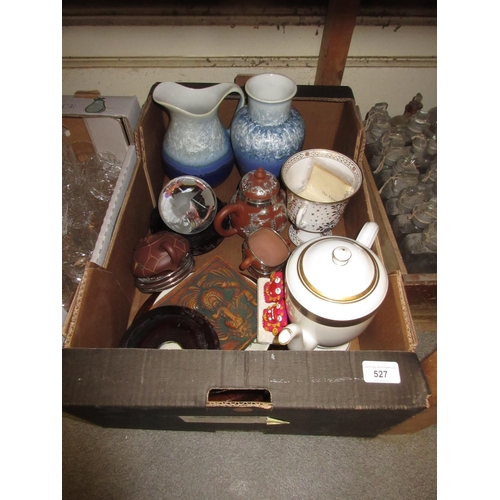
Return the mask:
<path id="1" fill-rule="evenodd" d="M 341 85 L 360 0 L 329 0 L 315 85 Z"/>

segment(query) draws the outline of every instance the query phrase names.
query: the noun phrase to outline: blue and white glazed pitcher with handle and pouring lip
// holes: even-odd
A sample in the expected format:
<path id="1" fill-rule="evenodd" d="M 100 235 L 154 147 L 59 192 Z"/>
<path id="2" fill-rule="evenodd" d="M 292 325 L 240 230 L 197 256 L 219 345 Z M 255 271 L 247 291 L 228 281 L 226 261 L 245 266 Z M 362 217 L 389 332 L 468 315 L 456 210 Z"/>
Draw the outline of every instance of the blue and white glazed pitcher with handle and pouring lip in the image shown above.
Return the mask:
<path id="1" fill-rule="evenodd" d="M 229 177 L 234 155 L 229 131 L 222 125 L 218 109 L 232 92 L 240 94 L 239 110 L 245 103 L 245 95 L 234 83 L 193 89 L 163 82 L 155 87 L 153 100 L 169 115 L 161 159 L 170 179 L 190 175 L 216 187 Z"/>

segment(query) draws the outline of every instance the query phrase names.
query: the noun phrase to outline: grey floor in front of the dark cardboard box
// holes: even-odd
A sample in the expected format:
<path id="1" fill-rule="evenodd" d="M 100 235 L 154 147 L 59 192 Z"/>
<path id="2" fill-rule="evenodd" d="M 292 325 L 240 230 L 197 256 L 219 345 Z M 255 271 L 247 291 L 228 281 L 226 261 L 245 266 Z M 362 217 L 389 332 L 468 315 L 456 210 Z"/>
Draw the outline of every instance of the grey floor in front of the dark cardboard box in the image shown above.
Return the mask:
<path id="1" fill-rule="evenodd" d="M 345 438 L 101 428 L 62 419 L 68 500 L 437 498 L 437 426 Z"/>

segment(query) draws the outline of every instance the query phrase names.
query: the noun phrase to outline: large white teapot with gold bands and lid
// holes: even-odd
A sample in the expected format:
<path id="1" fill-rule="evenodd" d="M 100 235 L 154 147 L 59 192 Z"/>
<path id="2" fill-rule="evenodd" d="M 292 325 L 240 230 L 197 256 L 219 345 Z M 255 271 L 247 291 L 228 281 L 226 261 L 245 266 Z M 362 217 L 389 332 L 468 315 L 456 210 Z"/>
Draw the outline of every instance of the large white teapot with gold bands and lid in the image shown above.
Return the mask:
<path id="1" fill-rule="evenodd" d="M 387 271 L 370 250 L 378 225 L 367 222 L 356 240 L 314 238 L 291 253 L 285 302 L 290 324 L 278 341 L 291 350 L 336 347 L 360 335 L 382 304 Z"/>

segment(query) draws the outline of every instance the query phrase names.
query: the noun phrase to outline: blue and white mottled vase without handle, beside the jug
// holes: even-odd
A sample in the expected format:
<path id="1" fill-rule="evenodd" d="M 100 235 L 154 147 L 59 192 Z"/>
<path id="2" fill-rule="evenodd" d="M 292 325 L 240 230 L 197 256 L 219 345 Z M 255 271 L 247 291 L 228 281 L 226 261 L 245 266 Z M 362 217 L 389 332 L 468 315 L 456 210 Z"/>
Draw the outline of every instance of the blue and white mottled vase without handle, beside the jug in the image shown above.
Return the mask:
<path id="1" fill-rule="evenodd" d="M 250 78 L 245 90 L 248 105 L 235 113 L 230 128 L 236 166 L 242 176 L 262 167 L 279 178 L 285 160 L 304 144 L 304 120 L 292 106 L 297 85 L 264 73 Z"/>

